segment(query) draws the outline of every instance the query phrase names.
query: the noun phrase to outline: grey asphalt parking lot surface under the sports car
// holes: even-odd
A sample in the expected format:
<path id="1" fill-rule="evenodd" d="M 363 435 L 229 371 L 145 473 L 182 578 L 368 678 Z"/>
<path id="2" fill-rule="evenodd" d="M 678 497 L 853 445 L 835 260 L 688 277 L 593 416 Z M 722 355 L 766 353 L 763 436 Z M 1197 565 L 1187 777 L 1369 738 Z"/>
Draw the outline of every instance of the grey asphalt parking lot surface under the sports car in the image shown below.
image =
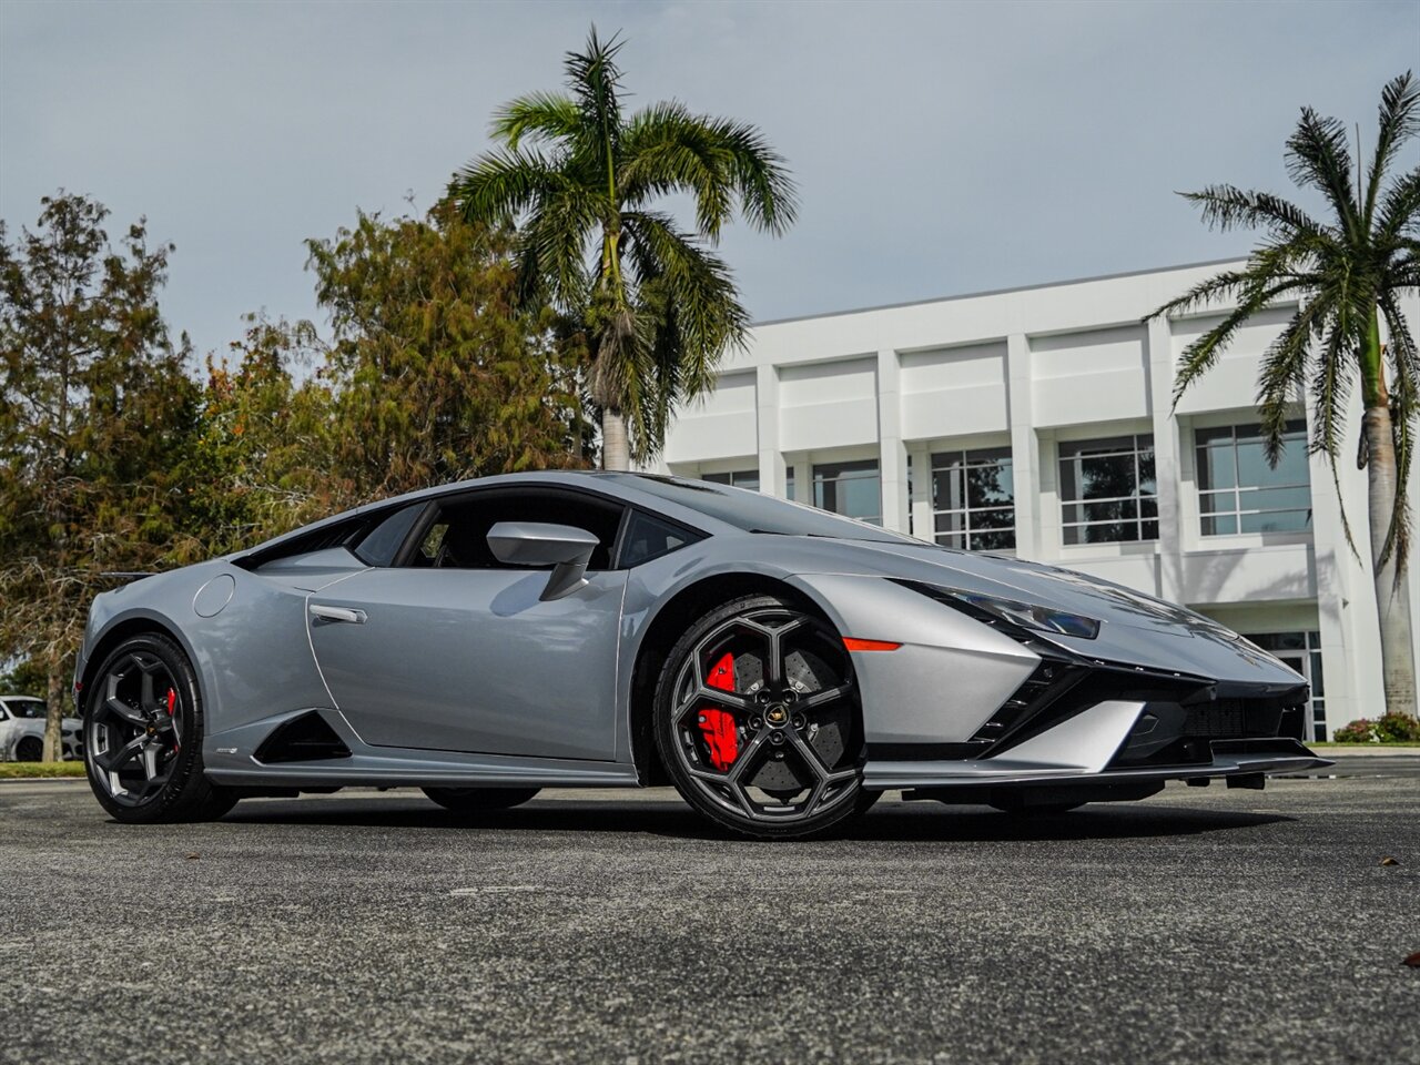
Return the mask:
<path id="1" fill-rule="evenodd" d="M 0 1061 L 1413 1061 L 1420 758 L 744 843 L 670 791 L 0 784 Z M 1383 858 L 1397 865 L 1382 865 Z"/>

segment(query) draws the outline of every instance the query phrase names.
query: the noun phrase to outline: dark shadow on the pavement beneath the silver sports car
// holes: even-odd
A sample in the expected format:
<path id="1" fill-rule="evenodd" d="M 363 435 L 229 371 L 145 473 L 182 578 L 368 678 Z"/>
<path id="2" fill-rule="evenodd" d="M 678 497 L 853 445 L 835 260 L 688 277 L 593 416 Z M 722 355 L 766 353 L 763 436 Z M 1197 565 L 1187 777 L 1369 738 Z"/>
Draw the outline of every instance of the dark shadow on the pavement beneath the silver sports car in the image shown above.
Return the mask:
<path id="1" fill-rule="evenodd" d="M 686 839 L 733 839 L 679 801 L 534 799 L 515 809 L 450 814 L 405 798 L 246 799 L 224 822 L 335 825 L 506 832 L 648 834 Z M 883 802 L 835 838 L 855 842 L 988 842 L 1031 839 L 1140 839 L 1254 828 L 1295 821 L 1281 814 L 1200 809 L 1166 804 L 1093 804 L 1068 814 L 1001 814 L 985 807 Z"/>

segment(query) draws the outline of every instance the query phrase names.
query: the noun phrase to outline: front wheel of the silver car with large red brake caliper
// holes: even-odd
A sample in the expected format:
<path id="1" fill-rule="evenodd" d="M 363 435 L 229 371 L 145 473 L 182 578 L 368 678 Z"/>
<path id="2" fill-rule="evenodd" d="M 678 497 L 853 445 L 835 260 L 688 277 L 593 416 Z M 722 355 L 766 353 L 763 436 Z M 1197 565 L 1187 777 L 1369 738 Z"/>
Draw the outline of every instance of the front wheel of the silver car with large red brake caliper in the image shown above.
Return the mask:
<path id="1" fill-rule="evenodd" d="M 653 716 L 676 791 L 737 835 L 821 836 L 878 801 L 863 788 L 852 659 L 824 618 L 788 599 L 747 595 L 692 625 L 662 667 Z"/>

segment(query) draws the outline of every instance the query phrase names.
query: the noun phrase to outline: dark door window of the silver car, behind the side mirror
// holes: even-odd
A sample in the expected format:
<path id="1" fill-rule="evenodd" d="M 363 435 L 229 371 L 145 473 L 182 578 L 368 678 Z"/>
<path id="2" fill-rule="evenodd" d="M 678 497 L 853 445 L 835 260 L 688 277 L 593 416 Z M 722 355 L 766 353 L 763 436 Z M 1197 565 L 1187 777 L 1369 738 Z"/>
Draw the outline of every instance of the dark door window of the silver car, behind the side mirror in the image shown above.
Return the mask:
<path id="1" fill-rule="evenodd" d="M 447 569 L 508 569 L 488 550 L 488 530 L 500 521 L 540 521 L 572 525 L 596 537 L 588 567 L 611 569 L 612 545 L 621 527 L 619 503 L 578 491 L 555 488 L 486 488 L 442 504 L 435 523 L 409 561 L 416 567 Z"/>

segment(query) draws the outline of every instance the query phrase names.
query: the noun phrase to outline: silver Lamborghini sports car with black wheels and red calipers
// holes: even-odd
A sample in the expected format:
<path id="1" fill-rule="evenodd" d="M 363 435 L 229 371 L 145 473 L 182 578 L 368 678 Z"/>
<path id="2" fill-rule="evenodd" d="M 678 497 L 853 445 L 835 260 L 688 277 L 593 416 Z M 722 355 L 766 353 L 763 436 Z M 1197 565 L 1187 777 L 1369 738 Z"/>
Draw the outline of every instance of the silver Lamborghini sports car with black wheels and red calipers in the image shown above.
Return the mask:
<path id="1" fill-rule="evenodd" d="M 94 601 L 74 687 L 94 794 L 133 822 L 669 781 L 792 838 L 886 790 L 1061 811 L 1329 764 L 1291 738 L 1302 679 L 1180 606 L 622 473 L 420 491 L 133 581 Z"/>

